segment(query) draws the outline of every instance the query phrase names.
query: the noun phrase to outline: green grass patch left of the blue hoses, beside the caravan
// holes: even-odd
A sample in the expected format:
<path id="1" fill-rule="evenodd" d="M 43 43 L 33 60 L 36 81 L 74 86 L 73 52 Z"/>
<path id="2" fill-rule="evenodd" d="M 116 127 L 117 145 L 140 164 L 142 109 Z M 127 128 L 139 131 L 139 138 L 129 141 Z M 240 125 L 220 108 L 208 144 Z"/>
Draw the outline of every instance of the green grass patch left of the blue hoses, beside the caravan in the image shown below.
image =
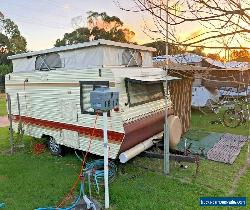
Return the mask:
<path id="1" fill-rule="evenodd" d="M 3 136 L 6 138 L 3 140 Z M 6 209 L 29 210 L 56 205 L 78 175 L 79 161 L 32 153 L 31 138 L 25 136 L 25 149 L 9 155 L 7 128 L 0 128 L 0 203 Z M 4 151 L 4 152 L 3 152 Z"/>

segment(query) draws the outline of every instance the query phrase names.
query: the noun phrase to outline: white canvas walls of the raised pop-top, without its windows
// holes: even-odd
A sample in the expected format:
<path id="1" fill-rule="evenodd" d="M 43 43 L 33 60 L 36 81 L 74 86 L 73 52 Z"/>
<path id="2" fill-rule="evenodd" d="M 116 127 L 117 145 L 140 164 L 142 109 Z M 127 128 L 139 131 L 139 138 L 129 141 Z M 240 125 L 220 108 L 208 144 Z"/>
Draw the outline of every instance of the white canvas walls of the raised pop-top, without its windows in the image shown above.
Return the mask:
<path id="1" fill-rule="evenodd" d="M 91 67 L 112 67 L 126 66 L 123 64 L 122 56 L 126 48 L 118 48 L 114 46 L 92 46 L 88 48 L 80 48 L 68 51 L 56 52 L 60 55 L 62 68 L 59 69 L 82 69 Z M 131 49 L 133 55 L 134 49 Z M 152 67 L 151 52 L 139 51 L 141 54 L 142 67 Z M 56 54 L 53 53 L 53 54 Z M 36 57 L 22 57 L 13 59 L 13 72 L 29 72 L 35 71 Z M 135 62 L 133 62 L 135 63 Z"/>

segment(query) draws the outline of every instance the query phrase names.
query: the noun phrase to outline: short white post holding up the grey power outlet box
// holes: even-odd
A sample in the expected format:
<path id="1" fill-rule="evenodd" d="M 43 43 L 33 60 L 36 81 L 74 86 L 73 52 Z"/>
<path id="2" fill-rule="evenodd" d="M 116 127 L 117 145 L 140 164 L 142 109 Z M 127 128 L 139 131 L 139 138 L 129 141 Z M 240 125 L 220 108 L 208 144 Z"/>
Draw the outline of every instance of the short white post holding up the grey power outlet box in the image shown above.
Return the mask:
<path id="1" fill-rule="evenodd" d="M 108 159 L 108 115 L 103 112 L 103 153 L 104 153 L 104 188 L 105 188 L 105 209 L 109 208 L 109 159 Z"/>

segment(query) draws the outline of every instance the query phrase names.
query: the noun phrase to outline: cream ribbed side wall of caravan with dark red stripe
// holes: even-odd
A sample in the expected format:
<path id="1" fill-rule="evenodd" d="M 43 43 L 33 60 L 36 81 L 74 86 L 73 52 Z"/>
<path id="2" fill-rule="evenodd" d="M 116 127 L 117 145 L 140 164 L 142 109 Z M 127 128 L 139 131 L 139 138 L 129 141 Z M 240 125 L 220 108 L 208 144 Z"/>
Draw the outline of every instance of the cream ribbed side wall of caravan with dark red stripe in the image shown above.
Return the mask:
<path id="1" fill-rule="evenodd" d="M 79 81 L 110 81 L 114 86 L 113 74 L 105 69 L 74 71 L 47 71 L 12 73 L 6 76 L 6 92 L 10 94 L 13 115 L 25 123 L 25 134 L 37 138 L 53 136 L 59 144 L 83 151 L 103 155 L 103 121 L 99 116 L 96 129 L 95 115 L 82 114 L 80 106 Z M 114 88 L 114 87 L 112 87 Z M 19 93 L 21 114 L 18 114 L 17 93 Z M 86 99 L 89 100 L 89 99 Z M 89 103 L 89 101 L 87 102 Z M 110 158 L 116 158 L 124 137 L 120 113 L 111 112 L 109 117 Z"/>

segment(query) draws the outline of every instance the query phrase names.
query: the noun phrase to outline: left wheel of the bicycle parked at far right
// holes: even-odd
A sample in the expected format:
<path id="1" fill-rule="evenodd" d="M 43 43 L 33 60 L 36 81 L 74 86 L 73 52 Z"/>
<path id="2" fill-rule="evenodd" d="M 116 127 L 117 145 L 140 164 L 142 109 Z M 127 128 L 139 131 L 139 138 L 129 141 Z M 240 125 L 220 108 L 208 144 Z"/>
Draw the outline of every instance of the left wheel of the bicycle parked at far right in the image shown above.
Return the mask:
<path id="1" fill-rule="evenodd" d="M 241 124 L 242 113 L 235 109 L 228 109 L 223 114 L 223 123 L 226 127 L 236 128 Z"/>

